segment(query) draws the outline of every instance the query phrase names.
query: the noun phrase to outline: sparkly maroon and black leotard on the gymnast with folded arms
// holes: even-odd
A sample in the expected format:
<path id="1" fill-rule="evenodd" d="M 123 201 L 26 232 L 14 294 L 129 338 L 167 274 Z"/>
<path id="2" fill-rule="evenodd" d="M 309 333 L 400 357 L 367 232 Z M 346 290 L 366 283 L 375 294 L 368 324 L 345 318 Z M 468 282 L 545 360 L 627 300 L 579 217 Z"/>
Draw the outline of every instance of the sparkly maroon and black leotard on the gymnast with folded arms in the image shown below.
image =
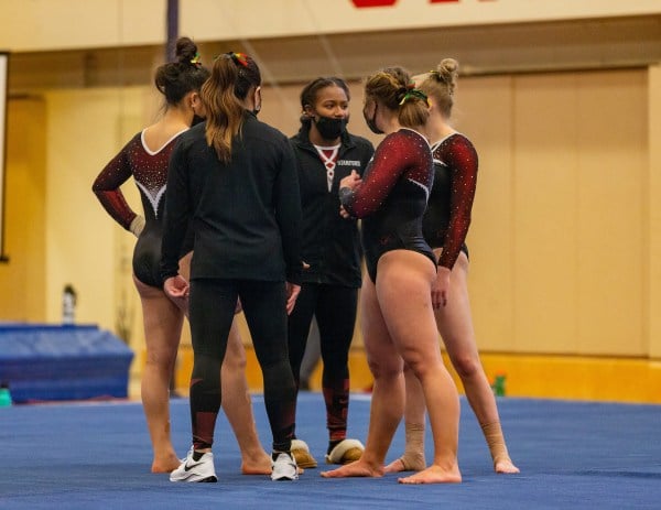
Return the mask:
<path id="1" fill-rule="evenodd" d="M 413 250 L 436 259 L 422 236 L 422 216 L 434 181 L 432 152 L 425 138 L 400 129 L 383 139 L 355 191 L 340 189 L 345 209 L 362 220 L 367 271 L 377 281 L 379 258 L 387 251 Z"/>

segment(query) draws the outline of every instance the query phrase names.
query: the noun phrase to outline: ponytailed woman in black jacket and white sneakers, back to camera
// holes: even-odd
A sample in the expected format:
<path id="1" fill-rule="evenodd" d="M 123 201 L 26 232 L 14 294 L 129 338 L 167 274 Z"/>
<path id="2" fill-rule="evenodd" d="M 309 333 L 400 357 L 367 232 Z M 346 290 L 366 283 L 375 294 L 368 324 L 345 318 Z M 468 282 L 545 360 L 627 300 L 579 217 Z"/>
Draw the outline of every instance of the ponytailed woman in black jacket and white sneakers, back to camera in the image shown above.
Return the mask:
<path id="1" fill-rule="evenodd" d="M 193 447 L 172 481 L 216 481 L 212 445 L 219 370 L 238 300 L 263 373 L 273 434 L 271 478 L 297 478 L 286 315 L 300 292 L 301 204 L 291 145 L 257 120 L 260 85 L 252 58 L 234 52 L 219 56 L 201 90 L 207 120 L 182 134 L 170 160 L 161 274 L 173 297 L 189 290 L 194 350 Z M 195 243 L 188 287 L 178 274 L 177 253 L 189 220 Z"/>

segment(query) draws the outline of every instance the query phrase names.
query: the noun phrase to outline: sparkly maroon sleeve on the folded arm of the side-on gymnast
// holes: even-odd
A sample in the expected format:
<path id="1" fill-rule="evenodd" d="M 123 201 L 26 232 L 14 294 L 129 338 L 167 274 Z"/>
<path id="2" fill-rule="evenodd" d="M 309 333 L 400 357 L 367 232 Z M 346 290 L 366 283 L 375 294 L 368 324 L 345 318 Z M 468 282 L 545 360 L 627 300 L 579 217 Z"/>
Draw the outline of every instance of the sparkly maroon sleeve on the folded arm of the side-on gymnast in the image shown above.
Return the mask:
<path id="1" fill-rule="evenodd" d="M 355 218 L 375 213 L 388 197 L 400 175 L 409 167 L 407 139 L 400 133 L 389 134 L 377 148 L 375 156 L 355 189 L 339 189 L 343 207 Z"/>

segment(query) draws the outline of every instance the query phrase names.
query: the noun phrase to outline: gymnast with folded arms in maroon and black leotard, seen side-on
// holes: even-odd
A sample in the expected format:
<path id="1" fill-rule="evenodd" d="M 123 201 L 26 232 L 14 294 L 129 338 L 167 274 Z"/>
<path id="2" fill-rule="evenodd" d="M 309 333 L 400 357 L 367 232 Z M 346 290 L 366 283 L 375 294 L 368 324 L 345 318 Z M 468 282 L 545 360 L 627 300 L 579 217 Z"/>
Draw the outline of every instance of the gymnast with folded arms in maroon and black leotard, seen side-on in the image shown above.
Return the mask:
<path id="1" fill-rule="evenodd" d="M 375 378 L 369 436 L 359 460 L 322 475 L 383 475 L 383 460 L 404 412 L 405 362 L 423 388 L 435 452 L 430 467 L 399 481 L 458 482 L 459 401 L 438 350 L 432 304 L 436 259 L 422 237 L 433 184 L 432 153 L 423 134 L 430 106 L 400 67 L 369 77 L 365 97 L 368 126 L 389 134 L 364 180 L 353 174 L 340 182 L 340 197 L 345 214 L 364 218 L 369 276 L 360 294 L 361 327 Z"/>

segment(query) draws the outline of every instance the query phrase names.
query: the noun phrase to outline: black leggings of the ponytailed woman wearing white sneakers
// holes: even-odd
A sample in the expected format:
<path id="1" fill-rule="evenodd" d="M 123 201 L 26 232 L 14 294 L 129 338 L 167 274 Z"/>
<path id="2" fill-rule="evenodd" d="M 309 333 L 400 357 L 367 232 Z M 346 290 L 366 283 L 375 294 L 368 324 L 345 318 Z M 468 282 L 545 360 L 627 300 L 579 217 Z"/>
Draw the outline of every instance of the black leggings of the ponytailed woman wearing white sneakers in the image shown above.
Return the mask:
<path id="1" fill-rule="evenodd" d="M 273 451 L 289 452 L 294 433 L 296 389 L 288 361 L 286 293 L 283 282 L 202 279 L 191 282 L 191 421 L 195 449 L 210 448 L 220 410 L 220 365 L 240 297 L 263 373 L 264 403 Z"/>

